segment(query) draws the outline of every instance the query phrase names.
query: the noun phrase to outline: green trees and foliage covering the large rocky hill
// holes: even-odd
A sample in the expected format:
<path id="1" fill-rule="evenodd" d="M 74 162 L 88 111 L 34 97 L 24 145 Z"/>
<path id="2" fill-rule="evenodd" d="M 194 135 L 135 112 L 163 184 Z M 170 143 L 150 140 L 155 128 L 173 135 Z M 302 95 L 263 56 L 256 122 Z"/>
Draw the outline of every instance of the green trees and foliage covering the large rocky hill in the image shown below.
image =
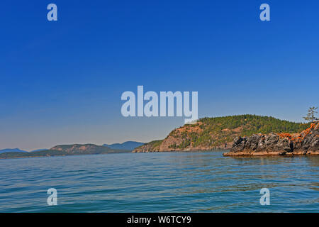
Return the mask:
<path id="1" fill-rule="evenodd" d="M 183 131 L 177 134 L 172 131 L 170 135 L 183 139 L 183 142 L 177 145 L 177 148 L 183 149 L 193 143 L 193 147 L 208 146 L 216 147 L 232 142 L 240 135 L 252 135 L 255 133 L 299 133 L 310 126 L 310 123 L 294 123 L 290 121 L 279 120 L 270 116 L 256 115 L 238 115 L 223 116 L 216 118 L 201 118 L 199 127 L 200 133 Z M 187 127 L 194 127 L 187 126 Z"/>

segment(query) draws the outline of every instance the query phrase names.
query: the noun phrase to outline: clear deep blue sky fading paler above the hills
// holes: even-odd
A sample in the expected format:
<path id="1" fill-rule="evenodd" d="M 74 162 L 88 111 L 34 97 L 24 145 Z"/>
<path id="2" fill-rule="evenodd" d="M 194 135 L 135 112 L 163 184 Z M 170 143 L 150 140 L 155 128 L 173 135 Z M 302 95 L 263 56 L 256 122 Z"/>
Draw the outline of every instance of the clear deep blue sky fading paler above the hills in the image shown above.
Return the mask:
<path id="1" fill-rule="evenodd" d="M 47 21 L 55 3 L 58 21 Z M 267 3 L 271 21 L 259 20 Z M 147 142 L 121 94 L 197 91 L 198 114 L 303 121 L 318 106 L 318 1 L 1 1 L 0 149 Z"/>

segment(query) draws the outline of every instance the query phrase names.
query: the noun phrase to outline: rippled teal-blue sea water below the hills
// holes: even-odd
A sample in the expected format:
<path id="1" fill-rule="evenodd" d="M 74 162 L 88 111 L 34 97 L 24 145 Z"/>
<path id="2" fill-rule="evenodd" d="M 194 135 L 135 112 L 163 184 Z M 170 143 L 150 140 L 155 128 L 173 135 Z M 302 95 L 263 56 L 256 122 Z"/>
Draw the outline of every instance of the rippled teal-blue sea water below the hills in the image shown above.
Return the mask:
<path id="1" fill-rule="evenodd" d="M 0 160 L 0 212 L 318 212 L 319 157 L 222 152 Z M 47 189 L 57 206 L 47 206 Z M 270 190 L 270 205 L 259 190 Z"/>

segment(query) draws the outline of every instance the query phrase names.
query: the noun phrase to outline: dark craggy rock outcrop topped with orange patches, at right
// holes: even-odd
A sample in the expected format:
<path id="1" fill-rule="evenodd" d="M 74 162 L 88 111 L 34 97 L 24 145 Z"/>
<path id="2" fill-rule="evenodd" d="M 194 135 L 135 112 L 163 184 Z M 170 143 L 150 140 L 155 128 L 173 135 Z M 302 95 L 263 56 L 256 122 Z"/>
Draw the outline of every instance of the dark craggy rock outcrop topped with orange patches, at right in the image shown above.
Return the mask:
<path id="1" fill-rule="evenodd" d="M 319 155 L 319 121 L 301 133 L 238 136 L 233 141 L 233 148 L 224 155 Z"/>

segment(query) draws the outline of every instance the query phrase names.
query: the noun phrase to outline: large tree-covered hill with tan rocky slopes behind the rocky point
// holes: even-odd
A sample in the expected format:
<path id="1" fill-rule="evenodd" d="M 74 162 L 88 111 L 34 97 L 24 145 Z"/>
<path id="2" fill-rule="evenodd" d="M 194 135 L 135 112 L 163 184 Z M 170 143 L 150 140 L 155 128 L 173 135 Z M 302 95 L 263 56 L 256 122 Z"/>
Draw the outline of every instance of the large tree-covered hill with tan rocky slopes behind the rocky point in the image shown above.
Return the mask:
<path id="1" fill-rule="evenodd" d="M 155 140 L 135 148 L 133 153 L 230 149 L 237 136 L 271 131 L 297 133 L 308 126 L 254 115 L 201 118 L 196 124 L 174 129 L 164 140 Z"/>

